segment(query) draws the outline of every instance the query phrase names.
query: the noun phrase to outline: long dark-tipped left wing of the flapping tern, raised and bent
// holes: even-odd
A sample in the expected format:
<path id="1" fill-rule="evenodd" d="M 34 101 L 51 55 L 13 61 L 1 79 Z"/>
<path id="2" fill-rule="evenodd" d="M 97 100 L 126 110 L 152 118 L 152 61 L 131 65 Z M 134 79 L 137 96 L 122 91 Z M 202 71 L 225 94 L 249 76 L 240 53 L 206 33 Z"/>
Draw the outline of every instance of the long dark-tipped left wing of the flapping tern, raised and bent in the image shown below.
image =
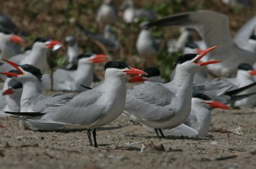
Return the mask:
<path id="1" fill-rule="evenodd" d="M 178 13 L 150 22 L 147 26 L 186 26 L 195 29 L 203 38 L 207 47 L 220 45 L 221 49 L 224 50 L 234 45 L 230 34 L 228 17 L 216 11 L 198 10 Z M 223 50 L 215 50 L 211 54 L 220 55 Z M 219 57 L 222 57 L 222 55 Z"/>

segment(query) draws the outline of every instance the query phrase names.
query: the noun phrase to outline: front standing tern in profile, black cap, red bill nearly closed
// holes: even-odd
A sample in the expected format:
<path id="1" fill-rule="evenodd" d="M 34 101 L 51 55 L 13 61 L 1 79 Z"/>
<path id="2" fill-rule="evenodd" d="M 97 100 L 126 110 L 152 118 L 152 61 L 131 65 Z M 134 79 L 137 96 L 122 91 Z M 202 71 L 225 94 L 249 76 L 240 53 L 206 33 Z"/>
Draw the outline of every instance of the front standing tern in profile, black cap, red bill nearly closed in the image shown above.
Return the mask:
<path id="1" fill-rule="evenodd" d="M 105 80 L 97 87 L 81 92 L 60 107 L 47 108 L 42 117 L 29 122 L 63 124 L 67 128 L 87 128 L 88 139 L 92 146 L 90 130 L 93 129 L 94 147 L 96 128 L 113 121 L 122 114 L 125 107 L 125 75 L 146 74 L 144 71 L 131 68 L 121 61 L 109 61 L 104 66 Z M 45 115 L 44 115 L 45 114 Z"/>

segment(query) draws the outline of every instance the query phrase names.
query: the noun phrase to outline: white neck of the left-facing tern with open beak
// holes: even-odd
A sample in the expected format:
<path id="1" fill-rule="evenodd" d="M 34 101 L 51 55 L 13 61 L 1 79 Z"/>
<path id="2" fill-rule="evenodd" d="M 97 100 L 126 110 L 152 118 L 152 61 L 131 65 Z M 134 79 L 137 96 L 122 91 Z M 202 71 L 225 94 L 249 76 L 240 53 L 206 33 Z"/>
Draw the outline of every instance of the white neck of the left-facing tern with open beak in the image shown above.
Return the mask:
<path id="1" fill-rule="evenodd" d="M 36 98 L 42 94 L 41 83 L 36 79 L 26 80 L 22 82 L 23 91 L 20 98 L 20 111 L 24 111 L 24 108 L 28 108 L 29 105 L 36 101 Z"/>

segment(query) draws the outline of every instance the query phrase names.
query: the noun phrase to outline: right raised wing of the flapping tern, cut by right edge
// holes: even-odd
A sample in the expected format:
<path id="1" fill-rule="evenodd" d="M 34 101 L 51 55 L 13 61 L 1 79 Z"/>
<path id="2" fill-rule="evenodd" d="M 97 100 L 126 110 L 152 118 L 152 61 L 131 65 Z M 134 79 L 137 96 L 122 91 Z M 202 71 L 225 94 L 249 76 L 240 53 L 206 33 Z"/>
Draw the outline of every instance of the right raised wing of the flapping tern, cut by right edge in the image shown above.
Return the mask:
<path id="1" fill-rule="evenodd" d="M 254 52 L 254 48 L 253 46 L 252 47 L 250 46 L 249 40 L 255 28 L 256 28 L 256 17 L 253 17 L 248 22 L 246 22 L 246 24 L 244 24 L 243 27 L 241 27 L 241 29 L 239 29 L 239 31 L 237 32 L 234 38 L 234 41 L 240 48 Z"/>

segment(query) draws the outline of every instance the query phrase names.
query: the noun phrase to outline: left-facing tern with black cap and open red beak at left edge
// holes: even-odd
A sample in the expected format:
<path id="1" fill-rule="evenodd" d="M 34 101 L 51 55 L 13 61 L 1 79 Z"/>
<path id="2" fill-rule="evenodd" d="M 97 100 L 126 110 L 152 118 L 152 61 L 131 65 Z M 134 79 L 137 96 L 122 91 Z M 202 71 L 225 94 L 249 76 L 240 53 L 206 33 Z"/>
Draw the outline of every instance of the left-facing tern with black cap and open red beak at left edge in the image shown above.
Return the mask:
<path id="1" fill-rule="evenodd" d="M 70 94 L 55 94 L 45 96 L 41 92 L 42 73 L 38 68 L 30 64 L 17 65 L 7 61 L 19 73 L 3 72 L 1 74 L 12 76 L 22 83 L 23 90 L 20 98 L 20 112 L 42 112 L 49 105 L 63 104 L 72 98 Z"/>

